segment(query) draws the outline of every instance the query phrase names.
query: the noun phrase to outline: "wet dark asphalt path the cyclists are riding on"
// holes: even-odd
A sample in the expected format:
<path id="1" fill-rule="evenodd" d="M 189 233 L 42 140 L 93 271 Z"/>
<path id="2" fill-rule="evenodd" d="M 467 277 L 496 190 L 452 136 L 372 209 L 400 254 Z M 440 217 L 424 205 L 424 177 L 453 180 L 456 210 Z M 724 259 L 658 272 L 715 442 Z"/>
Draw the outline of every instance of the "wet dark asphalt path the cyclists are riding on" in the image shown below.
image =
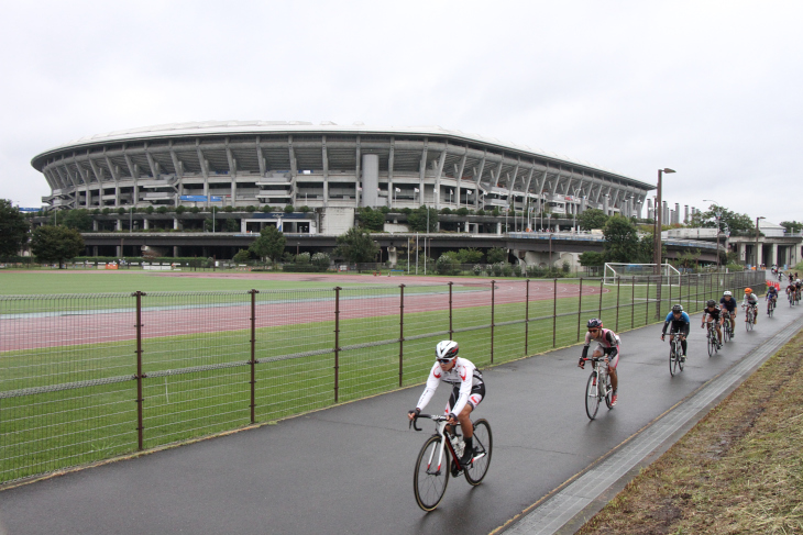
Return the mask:
<path id="1" fill-rule="evenodd" d="M 415 459 L 432 430 L 426 421 L 426 432 L 407 428 L 416 387 L 2 491 L 0 534 L 485 534 L 801 320 L 803 308 L 781 300 L 754 332 L 737 321 L 735 343 L 710 358 L 695 314 L 674 378 L 661 325 L 624 333 L 619 404 L 594 422 L 580 346 L 486 370 L 476 416 L 494 433 L 488 475 L 476 488 L 450 479 L 432 513 L 413 497 Z M 441 387 L 428 410 L 448 393 Z"/>

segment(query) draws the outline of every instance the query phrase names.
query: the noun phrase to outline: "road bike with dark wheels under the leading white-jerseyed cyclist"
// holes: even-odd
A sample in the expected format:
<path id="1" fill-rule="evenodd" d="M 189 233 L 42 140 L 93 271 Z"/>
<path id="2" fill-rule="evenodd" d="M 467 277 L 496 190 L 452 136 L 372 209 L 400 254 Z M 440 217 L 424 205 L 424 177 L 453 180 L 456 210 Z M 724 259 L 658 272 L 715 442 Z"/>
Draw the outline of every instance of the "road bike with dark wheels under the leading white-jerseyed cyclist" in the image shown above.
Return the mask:
<path id="1" fill-rule="evenodd" d="M 419 417 L 427 417 L 435 422 L 435 434 L 421 446 L 421 452 L 416 460 L 416 471 L 413 476 L 413 490 L 416 494 L 416 503 L 425 511 L 432 511 L 443 499 L 449 484 L 449 476 L 458 477 L 462 471 L 469 484 L 477 486 L 485 478 L 491 465 L 491 454 L 494 447 L 494 437 L 491 434 L 491 425 L 484 419 L 473 422 L 474 455 L 468 465 L 460 464 L 465 443 L 457 428 L 447 430 L 447 416 L 432 414 L 418 414 L 410 426 L 421 431 L 416 422 Z M 449 427 L 460 427 L 449 425 Z M 447 437 L 449 437 L 447 439 Z"/>

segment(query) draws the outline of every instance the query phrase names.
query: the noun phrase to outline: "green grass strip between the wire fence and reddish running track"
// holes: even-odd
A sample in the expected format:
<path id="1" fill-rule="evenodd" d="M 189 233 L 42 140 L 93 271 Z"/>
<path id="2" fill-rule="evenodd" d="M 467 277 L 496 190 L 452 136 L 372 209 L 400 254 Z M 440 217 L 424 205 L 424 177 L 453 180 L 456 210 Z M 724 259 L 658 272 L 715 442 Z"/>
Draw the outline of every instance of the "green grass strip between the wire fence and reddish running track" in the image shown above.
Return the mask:
<path id="1" fill-rule="evenodd" d="M 7 275 L 1 274 L 0 277 Z M 117 280 L 119 275 L 109 277 L 105 274 L 97 279 L 109 277 Z M 151 274 L 140 275 L 153 277 Z M 81 274 L 68 275 L 74 276 L 81 278 Z M 61 274 L 54 277 L 61 277 Z M 586 283 L 590 282 L 584 281 L 584 286 Z M 598 288 L 598 281 L 590 285 Z M 602 315 L 606 326 L 620 332 L 656 321 L 654 304 L 646 303 L 646 287 L 623 285 L 618 292 L 617 287 L 607 288 L 610 291 L 602 294 L 602 303 L 600 294 L 592 294 L 584 296 L 582 301 L 578 297 L 530 301 L 527 311 L 525 303 L 496 304 L 493 310 L 493 364 L 574 344 L 584 334 L 584 324 L 590 316 Z M 704 288 L 706 291 L 702 293 Z M 684 300 L 684 304 L 696 304 L 688 306 L 690 310 L 698 310 L 705 299 L 721 291 L 708 286 L 698 289 L 700 294 L 686 296 Z M 446 287 L 440 286 L 407 287 L 405 296 L 444 290 Z M 320 298 L 332 294 L 321 290 L 305 291 L 261 293 L 257 299 L 297 300 L 299 296 Z M 649 292 L 650 300 L 654 299 L 654 291 L 653 286 Z M 398 289 L 344 290 L 341 294 L 398 296 Z M 153 302 L 186 303 L 184 296 L 179 297 L 182 299 L 176 294 L 163 294 L 157 301 L 151 301 L 156 298 L 148 296 L 143 298 L 143 305 L 148 306 Z M 531 299 L 535 297 L 530 296 Z M 661 310 L 666 315 L 676 294 L 673 292 L 670 301 L 669 287 L 663 287 L 663 298 Z M 128 306 L 132 306 L 128 299 Z M 242 293 L 205 294 L 200 303 L 242 303 L 246 299 L 249 297 Z M 47 304 L 50 301 L 45 298 L 38 300 L 44 303 L 42 309 L 51 308 L 52 303 Z M 97 300 L 84 301 L 81 304 L 97 308 Z M 24 304 L 31 301 L 21 302 L 23 306 L 19 311 L 25 310 Z M 53 306 L 61 304 L 63 302 L 56 300 Z M 289 303 L 288 312 L 292 313 L 292 310 Z M 492 364 L 491 312 L 491 306 L 485 305 L 454 309 L 452 313 L 452 325 L 457 331 L 453 338 L 461 344 L 461 356 L 480 367 Z M 0 313 L 8 312 L 0 310 Z M 182 313 L 197 313 L 199 317 L 206 317 L 216 312 L 213 309 L 190 308 Z M 244 308 L 243 313 L 248 315 L 250 309 Z M 530 319 L 527 326 L 524 323 L 526 314 Z M 102 314 L 84 316 L 82 321 L 102 321 Z M 248 328 L 227 330 L 226 325 L 218 328 L 212 333 L 143 339 L 143 371 L 151 376 L 142 381 L 145 448 L 251 423 L 251 367 L 226 367 L 251 358 L 251 332 Z M 276 420 L 336 402 L 334 330 L 333 321 L 256 330 L 255 356 L 263 363 L 255 366 L 255 421 Z M 449 337 L 449 311 L 405 314 L 406 339 L 400 378 L 399 331 L 399 316 L 395 313 L 340 321 L 337 401 L 386 392 L 398 388 L 399 380 L 402 386 L 424 381 L 432 365 L 433 345 Z M 134 341 L 118 341 L 0 353 L 0 393 L 121 376 L 129 378 L 124 382 L 0 399 L 0 481 L 135 452 L 134 352 Z M 308 355 L 312 352 L 326 353 Z M 296 357 L 270 360 L 288 355 Z M 187 370 L 215 365 L 220 368 Z M 167 370 L 182 369 L 185 371 L 167 374 Z"/>

